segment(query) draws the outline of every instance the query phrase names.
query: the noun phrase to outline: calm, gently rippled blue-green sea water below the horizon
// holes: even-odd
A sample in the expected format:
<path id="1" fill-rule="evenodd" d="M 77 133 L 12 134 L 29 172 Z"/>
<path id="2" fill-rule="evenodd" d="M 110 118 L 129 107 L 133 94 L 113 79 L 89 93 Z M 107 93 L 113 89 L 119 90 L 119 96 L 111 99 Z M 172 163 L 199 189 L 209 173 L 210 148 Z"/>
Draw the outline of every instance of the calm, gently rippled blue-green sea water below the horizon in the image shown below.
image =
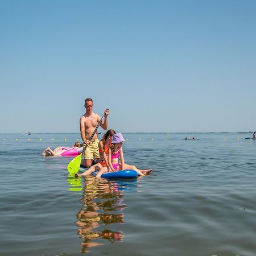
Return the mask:
<path id="1" fill-rule="evenodd" d="M 151 175 L 73 179 L 40 154 L 79 134 L 0 134 L 0 255 L 256 255 L 251 134 L 123 135 Z"/>

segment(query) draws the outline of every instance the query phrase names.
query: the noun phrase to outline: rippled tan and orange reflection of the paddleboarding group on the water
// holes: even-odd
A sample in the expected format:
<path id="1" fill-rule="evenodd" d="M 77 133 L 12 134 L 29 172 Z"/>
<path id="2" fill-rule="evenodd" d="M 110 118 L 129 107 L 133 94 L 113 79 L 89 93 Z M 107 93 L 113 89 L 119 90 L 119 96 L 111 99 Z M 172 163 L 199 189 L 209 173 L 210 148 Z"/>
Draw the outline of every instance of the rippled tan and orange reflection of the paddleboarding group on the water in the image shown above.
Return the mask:
<path id="1" fill-rule="evenodd" d="M 115 223 L 123 223 L 123 213 L 120 211 L 126 208 L 118 183 L 87 177 L 81 203 L 83 206 L 77 213 L 76 225 L 83 240 L 82 253 L 86 253 L 89 247 L 103 245 L 100 242 L 102 239 L 111 243 L 123 240 L 122 232 L 110 229 Z"/>

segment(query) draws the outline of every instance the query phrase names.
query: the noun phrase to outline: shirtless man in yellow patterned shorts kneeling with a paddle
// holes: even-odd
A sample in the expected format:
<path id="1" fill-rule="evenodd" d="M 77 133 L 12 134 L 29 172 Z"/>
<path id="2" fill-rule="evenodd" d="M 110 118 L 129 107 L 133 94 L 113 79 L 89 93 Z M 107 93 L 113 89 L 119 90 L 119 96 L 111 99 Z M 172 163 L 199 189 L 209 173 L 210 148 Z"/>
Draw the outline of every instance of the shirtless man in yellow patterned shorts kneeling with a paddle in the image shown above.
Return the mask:
<path id="1" fill-rule="evenodd" d="M 84 152 L 84 159 L 81 160 L 82 166 L 88 168 L 92 165 L 92 160 L 100 158 L 98 154 L 98 134 L 95 133 L 92 140 L 89 141 L 89 138 L 92 136 L 93 131 L 96 129 L 96 126 L 100 122 L 100 115 L 93 113 L 93 100 L 91 98 L 86 98 L 85 100 L 85 109 L 86 112 L 80 118 L 80 133 L 82 141 L 85 144 L 88 144 Z M 102 129 L 108 129 L 108 114 L 109 110 L 105 109 L 105 118 L 104 122 L 100 124 Z"/>

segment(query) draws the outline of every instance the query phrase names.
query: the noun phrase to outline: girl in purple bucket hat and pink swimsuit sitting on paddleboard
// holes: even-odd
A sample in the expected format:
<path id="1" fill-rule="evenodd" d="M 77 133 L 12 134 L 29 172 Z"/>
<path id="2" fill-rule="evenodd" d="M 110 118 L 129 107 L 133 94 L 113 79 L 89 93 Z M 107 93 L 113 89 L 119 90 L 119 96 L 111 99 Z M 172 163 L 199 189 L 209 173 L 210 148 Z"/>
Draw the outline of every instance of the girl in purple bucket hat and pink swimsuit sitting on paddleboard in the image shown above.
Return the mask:
<path id="1" fill-rule="evenodd" d="M 151 172 L 152 169 L 140 170 L 136 166 L 129 165 L 125 163 L 125 158 L 123 157 L 123 148 L 122 144 L 125 141 L 121 133 L 116 133 L 113 135 L 112 144 L 108 152 L 108 163 L 109 168 L 102 168 L 96 177 L 100 177 L 104 172 L 115 172 L 121 170 L 134 170 L 137 171 L 139 176 L 144 176 L 148 172 Z M 119 161 L 120 160 L 120 161 Z"/>

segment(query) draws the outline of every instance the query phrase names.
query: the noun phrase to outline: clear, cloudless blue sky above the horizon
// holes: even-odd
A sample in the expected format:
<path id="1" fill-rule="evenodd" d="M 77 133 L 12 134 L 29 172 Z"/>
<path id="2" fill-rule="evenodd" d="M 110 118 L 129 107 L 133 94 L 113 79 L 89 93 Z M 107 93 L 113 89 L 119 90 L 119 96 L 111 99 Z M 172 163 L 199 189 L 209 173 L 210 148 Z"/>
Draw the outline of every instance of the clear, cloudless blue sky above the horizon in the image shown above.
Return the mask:
<path id="1" fill-rule="evenodd" d="M 0 133 L 256 130 L 256 1 L 0 0 Z"/>

